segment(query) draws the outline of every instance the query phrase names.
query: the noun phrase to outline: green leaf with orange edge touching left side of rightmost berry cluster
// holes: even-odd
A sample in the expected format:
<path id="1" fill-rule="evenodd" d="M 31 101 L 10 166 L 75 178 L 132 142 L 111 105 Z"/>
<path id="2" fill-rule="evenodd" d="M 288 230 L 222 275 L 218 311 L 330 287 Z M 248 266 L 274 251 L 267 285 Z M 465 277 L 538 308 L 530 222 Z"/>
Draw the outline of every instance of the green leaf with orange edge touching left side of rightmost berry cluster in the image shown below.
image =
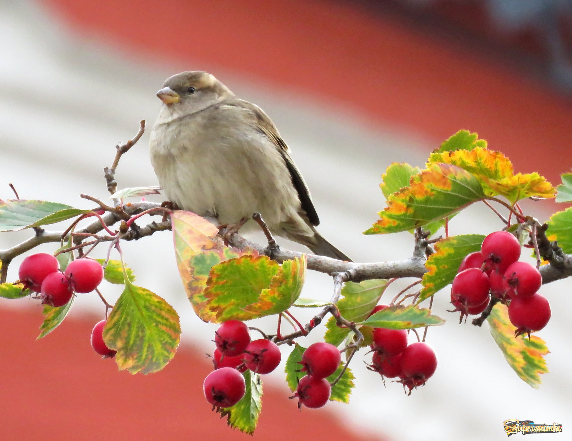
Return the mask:
<path id="1" fill-rule="evenodd" d="M 462 234 L 441 239 L 435 244 L 435 253 L 425 262 L 427 273 L 423 274 L 418 304 L 431 297 L 453 281 L 459 265 L 467 254 L 480 251 L 484 241 L 482 234 Z"/>

